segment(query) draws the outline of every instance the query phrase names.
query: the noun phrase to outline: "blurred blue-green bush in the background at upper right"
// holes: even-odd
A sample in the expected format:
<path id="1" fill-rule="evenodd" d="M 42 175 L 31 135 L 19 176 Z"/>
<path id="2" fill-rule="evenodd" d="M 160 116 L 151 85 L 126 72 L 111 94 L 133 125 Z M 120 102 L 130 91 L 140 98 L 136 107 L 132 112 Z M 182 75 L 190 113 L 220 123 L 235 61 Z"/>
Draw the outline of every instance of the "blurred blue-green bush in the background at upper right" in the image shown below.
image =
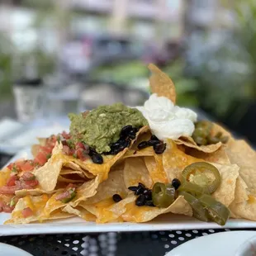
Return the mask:
<path id="1" fill-rule="evenodd" d="M 237 1 L 234 18 L 233 31 L 190 41 L 187 72 L 200 82 L 202 107 L 239 122 L 256 97 L 256 2 Z"/>

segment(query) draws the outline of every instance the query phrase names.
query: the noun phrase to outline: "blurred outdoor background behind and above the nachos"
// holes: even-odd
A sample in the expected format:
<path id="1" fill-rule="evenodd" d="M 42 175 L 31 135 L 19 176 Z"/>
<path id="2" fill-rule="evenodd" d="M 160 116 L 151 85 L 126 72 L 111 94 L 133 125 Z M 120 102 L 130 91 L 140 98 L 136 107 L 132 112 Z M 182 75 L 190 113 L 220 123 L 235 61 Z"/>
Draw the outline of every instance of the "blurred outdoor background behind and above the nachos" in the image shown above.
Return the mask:
<path id="1" fill-rule="evenodd" d="M 2 0 L 1 133 L 141 105 L 150 62 L 172 77 L 178 105 L 256 144 L 255 0 Z"/>

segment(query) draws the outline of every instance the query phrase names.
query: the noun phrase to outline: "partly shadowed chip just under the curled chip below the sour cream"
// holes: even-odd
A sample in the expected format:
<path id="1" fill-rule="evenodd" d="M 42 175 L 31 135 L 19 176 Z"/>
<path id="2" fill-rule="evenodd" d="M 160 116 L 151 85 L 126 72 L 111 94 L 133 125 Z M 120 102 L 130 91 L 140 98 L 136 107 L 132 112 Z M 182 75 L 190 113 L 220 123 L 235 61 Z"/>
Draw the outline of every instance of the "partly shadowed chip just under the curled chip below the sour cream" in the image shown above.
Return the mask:
<path id="1" fill-rule="evenodd" d="M 186 154 L 192 155 L 193 157 L 197 159 L 203 159 L 206 162 L 211 162 L 215 164 L 230 164 L 230 159 L 228 157 L 226 147 L 221 147 L 216 152 L 213 152 L 211 154 L 207 154 L 201 151 L 198 151 L 197 149 L 186 149 Z"/>

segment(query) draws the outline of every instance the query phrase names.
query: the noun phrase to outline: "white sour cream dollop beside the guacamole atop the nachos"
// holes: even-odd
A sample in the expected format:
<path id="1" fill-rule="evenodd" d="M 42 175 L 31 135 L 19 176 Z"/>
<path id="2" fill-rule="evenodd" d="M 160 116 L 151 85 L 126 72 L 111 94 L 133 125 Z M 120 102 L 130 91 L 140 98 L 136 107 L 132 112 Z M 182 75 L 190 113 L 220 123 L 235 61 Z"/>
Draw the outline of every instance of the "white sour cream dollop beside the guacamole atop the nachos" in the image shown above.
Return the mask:
<path id="1" fill-rule="evenodd" d="M 197 114 L 185 107 L 174 106 L 167 97 L 152 94 L 144 107 L 137 107 L 149 122 L 149 127 L 159 140 L 191 136 L 195 130 Z"/>

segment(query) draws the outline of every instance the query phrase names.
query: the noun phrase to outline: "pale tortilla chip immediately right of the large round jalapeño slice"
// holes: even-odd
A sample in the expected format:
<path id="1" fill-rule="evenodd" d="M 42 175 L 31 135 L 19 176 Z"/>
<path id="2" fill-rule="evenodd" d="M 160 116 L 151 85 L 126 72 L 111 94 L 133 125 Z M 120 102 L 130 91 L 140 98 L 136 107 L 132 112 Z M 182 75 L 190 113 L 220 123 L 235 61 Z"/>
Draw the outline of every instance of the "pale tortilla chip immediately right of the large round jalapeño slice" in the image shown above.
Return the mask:
<path id="1" fill-rule="evenodd" d="M 212 164 L 212 163 L 211 163 Z M 219 170 L 221 176 L 220 187 L 212 194 L 216 201 L 220 201 L 225 206 L 230 206 L 235 200 L 236 179 L 239 177 L 239 166 L 213 164 Z"/>

